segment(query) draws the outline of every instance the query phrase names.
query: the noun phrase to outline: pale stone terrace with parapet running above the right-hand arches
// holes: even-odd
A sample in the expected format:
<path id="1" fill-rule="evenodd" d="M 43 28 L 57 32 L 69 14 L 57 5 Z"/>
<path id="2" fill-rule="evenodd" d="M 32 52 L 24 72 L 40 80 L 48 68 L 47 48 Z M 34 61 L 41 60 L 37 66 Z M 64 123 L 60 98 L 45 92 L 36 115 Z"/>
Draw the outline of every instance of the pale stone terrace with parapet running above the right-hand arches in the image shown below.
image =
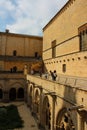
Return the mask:
<path id="1" fill-rule="evenodd" d="M 27 75 L 27 80 L 36 85 L 42 86 L 44 89 L 48 89 L 49 91 L 56 92 L 56 87 L 58 88 L 58 85 L 87 91 L 87 78 L 58 74 L 56 81 L 53 81 L 51 76 L 43 74 L 42 77 L 39 75 Z"/>

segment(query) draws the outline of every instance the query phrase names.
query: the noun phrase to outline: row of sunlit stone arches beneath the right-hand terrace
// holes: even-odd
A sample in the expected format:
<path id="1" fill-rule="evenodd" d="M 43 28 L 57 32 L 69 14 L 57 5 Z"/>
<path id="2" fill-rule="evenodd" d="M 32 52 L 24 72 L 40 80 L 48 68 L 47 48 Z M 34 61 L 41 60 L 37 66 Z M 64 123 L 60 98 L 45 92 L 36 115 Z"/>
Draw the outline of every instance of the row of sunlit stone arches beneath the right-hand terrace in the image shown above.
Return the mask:
<path id="1" fill-rule="evenodd" d="M 34 83 L 28 84 L 27 105 L 39 127 L 43 127 L 45 130 L 76 130 L 71 112 L 63 106 L 57 110 L 57 104 L 57 96 L 54 93 L 46 92 L 45 89 Z M 56 115 L 55 111 L 57 111 Z"/>

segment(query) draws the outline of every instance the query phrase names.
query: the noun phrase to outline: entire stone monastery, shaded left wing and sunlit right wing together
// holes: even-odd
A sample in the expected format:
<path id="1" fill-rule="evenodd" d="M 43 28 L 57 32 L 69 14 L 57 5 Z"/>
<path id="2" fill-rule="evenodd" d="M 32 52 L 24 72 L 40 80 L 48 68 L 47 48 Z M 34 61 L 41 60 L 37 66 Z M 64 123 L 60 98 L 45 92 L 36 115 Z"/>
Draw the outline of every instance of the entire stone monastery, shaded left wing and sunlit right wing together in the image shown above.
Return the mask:
<path id="1" fill-rule="evenodd" d="M 0 32 L 0 101 L 24 100 L 39 128 L 87 130 L 86 13 L 86 0 L 68 0 L 43 39 Z M 43 63 L 39 73 L 34 63 Z"/>

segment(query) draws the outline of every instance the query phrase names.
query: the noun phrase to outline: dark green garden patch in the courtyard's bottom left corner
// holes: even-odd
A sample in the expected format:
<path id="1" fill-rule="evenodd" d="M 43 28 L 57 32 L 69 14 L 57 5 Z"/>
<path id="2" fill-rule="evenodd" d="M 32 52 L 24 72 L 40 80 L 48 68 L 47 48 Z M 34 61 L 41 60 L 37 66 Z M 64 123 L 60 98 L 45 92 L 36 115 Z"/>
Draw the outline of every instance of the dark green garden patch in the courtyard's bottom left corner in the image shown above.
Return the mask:
<path id="1" fill-rule="evenodd" d="M 0 130 L 22 128 L 23 123 L 15 105 L 0 107 Z"/>

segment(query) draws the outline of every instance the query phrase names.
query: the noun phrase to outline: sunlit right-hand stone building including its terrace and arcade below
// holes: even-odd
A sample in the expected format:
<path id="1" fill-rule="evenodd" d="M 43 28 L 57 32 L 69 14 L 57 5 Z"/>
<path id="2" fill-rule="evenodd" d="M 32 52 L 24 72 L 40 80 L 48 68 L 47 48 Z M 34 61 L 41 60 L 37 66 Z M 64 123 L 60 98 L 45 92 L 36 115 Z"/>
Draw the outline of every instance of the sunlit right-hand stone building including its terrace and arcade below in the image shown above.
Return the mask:
<path id="1" fill-rule="evenodd" d="M 87 130 L 87 1 L 69 0 L 43 34 L 45 72 L 27 75 L 27 105 L 46 130 Z"/>

